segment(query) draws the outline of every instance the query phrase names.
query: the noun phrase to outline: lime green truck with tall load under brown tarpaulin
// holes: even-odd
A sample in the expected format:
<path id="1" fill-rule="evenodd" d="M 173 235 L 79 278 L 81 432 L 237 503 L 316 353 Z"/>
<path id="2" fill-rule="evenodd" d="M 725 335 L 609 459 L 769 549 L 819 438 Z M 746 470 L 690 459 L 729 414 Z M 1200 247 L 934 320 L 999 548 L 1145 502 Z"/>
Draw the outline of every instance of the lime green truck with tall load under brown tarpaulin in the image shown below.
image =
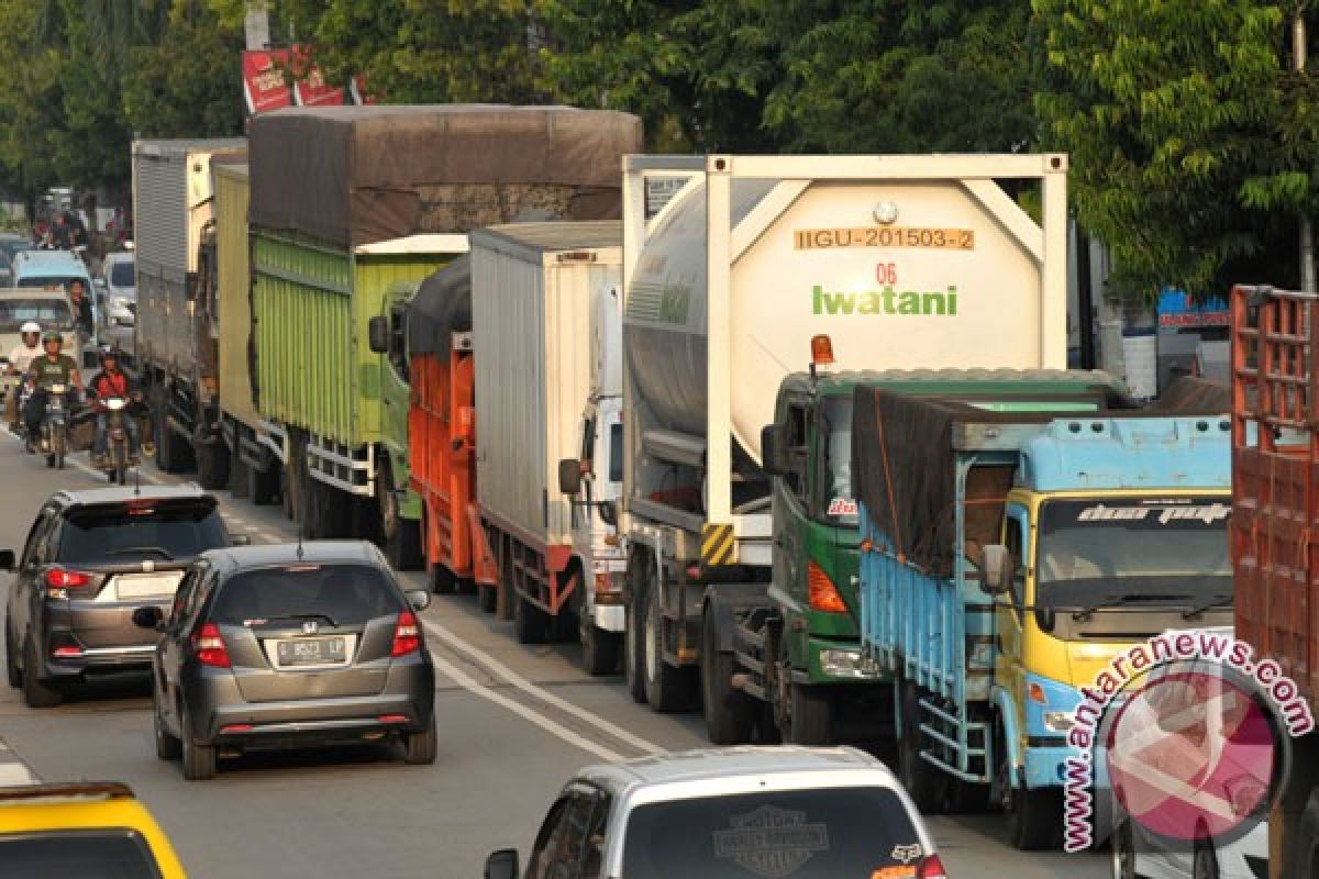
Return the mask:
<path id="1" fill-rule="evenodd" d="M 372 538 L 394 567 L 421 565 L 408 291 L 466 253 L 470 229 L 532 212 L 617 216 L 621 156 L 640 142 L 634 116 L 567 107 L 306 107 L 252 120 L 259 441 L 245 448 L 269 455 L 244 464 L 278 474 L 302 534 Z"/>

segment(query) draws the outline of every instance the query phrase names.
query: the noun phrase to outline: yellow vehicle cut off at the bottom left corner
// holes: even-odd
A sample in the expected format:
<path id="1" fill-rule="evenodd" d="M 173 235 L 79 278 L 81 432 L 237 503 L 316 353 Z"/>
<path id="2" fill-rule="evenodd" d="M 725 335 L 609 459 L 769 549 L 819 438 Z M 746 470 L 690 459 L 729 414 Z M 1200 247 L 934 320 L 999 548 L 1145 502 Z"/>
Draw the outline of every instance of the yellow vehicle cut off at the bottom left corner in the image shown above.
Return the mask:
<path id="1" fill-rule="evenodd" d="M 146 807 L 119 781 L 0 787 L 0 872 L 58 879 L 182 879 Z"/>

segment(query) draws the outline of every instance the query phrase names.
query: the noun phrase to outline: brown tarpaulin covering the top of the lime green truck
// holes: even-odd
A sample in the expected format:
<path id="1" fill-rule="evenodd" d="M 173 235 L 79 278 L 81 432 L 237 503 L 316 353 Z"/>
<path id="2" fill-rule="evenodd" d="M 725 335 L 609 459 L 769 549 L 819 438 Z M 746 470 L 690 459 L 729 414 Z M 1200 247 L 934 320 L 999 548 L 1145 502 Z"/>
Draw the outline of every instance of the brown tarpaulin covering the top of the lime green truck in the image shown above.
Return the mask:
<path id="1" fill-rule="evenodd" d="M 360 246 L 529 208 L 617 219 L 641 120 L 574 107 L 297 107 L 255 117 L 249 142 L 253 225 Z"/>

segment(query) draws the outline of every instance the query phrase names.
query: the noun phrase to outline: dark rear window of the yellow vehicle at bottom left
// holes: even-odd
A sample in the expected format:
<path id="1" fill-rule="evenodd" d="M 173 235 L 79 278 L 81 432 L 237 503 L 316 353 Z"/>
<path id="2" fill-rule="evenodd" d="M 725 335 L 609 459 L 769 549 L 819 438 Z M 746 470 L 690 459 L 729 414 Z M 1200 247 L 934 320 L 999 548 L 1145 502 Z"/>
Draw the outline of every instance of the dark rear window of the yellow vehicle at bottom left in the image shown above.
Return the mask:
<path id="1" fill-rule="evenodd" d="M 0 876 L 158 879 L 146 841 L 132 830 L 0 836 Z"/>

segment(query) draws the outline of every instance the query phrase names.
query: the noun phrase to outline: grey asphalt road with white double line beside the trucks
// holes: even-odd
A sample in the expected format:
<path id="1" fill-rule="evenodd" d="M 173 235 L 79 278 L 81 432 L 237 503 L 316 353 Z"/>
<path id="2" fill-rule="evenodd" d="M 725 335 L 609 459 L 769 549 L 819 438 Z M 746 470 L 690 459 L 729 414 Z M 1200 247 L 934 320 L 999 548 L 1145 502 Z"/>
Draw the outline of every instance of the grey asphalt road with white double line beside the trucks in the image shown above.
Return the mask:
<path id="1" fill-rule="evenodd" d="M 50 492 L 102 484 L 78 469 L 84 464 L 79 455 L 70 469 L 49 470 L 0 434 L 9 499 L 0 547 L 21 548 Z M 149 468 L 142 478 L 175 481 Z M 223 497 L 235 531 L 253 542 L 291 536 L 277 507 Z M 405 580 L 419 584 L 417 575 Z M 347 749 L 222 760 L 214 781 L 186 783 L 177 763 L 156 759 L 145 687 L 36 712 L 0 685 L 0 738 L 42 780 L 129 783 L 190 875 L 216 879 L 480 876 L 493 849 L 516 846 L 525 859 L 546 808 L 579 766 L 706 743 L 699 716 L 636 705 L 620 679 L 584 675 L 572 647 L 517 644 L 510 623 L 483 614 L 470 596 L 437 597 L 423 619 L 438 671 L 434 766 L 405 766 L 386 747 Z M 0 783 L 5 778 L 0 772 Z M 929 824 L 954 878 L 1109 875 L 1100 855 L 1012 850 L 1000 842 L 997 816 Z"/>

